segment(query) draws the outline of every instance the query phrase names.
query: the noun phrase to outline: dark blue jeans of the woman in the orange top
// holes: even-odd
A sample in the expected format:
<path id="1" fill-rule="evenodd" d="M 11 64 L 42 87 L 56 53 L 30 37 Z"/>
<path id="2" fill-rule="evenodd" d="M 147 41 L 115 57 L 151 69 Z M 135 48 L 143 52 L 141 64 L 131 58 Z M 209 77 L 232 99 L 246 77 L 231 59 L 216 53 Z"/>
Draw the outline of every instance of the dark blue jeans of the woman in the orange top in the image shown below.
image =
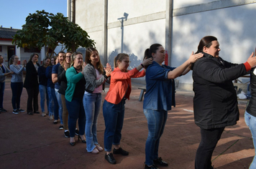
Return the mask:
<path id="1" fill-rule="evenodd" d="M 103 116 L 105 120 L 104 149 L 110 152 L 113 145 L 119 145 L 122 138 L 122 127 L 124 124 L 123 99 L 119 104 L 114 105 L 106 100 L 103 103 Z"/>

